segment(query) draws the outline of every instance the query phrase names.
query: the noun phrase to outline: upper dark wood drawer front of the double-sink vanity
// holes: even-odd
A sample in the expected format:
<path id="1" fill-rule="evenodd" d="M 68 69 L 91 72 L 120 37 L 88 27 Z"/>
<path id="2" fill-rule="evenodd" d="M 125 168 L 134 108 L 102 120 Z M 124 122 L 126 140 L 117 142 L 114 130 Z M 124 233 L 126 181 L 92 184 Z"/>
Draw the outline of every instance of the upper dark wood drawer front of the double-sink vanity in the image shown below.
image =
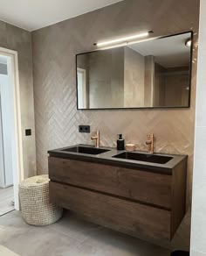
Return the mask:
<path id="1" fill-rule="evenodd" d="M 49 176 L 52 181 L 171 209 L 171 175 L 49 157 Z"/>

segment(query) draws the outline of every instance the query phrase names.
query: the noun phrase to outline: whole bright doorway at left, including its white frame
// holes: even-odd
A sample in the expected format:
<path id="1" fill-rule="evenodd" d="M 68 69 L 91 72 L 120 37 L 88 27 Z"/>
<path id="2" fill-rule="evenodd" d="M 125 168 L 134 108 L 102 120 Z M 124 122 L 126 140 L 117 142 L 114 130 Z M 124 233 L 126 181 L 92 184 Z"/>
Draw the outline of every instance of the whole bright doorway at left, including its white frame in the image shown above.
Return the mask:
<path id="1" fill-rule="evenodd" d="M 0 47 L 0 216 L 19 210 L 23 179 L 17 52 Z"/>

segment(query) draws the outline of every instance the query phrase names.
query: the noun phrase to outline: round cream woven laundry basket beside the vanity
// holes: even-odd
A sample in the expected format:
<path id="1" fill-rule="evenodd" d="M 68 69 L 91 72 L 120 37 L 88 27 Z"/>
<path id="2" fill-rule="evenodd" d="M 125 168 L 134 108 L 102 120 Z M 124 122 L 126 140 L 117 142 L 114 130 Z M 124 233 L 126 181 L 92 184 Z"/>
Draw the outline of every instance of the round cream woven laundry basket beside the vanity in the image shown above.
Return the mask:
<path id="1" fill-rule="evenodd" d="M 48 175 L 28 178 L 19 184 L 21 211 L 24 221 L 31 225 L 48 225 L 62 217 L 63 210 L 49 202 Z"/>

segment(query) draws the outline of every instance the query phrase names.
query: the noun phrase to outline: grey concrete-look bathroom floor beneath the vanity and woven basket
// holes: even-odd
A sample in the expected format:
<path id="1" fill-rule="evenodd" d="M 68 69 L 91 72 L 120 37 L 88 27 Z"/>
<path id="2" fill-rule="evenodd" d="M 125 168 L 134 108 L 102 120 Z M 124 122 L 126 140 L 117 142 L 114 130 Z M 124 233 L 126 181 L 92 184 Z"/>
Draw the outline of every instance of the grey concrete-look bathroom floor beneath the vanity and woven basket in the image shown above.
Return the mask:
<path id="1" fill-rule="evenodd" d="M 170 255 L 159 246 L 88 223 L 71 213 L 56 224 L 34 227 L 24 223 L 20 212 L 12 211 L 0 217 L 0 246 L 10 251 L 8 255 L 15 252 L 20 256 Z"/>

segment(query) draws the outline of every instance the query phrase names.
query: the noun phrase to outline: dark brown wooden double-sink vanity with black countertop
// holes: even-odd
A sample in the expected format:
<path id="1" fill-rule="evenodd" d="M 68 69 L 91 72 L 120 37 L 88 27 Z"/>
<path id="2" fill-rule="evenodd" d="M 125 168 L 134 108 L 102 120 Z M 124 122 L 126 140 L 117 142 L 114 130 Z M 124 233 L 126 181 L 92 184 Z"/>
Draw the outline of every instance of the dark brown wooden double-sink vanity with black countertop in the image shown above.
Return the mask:
<path id="1" fill-rule="evenodd" d="M 134 237 L 173 238 L 185 214 L 187 156 L 83 145 L 48 153 L 52 203 Z"/>

